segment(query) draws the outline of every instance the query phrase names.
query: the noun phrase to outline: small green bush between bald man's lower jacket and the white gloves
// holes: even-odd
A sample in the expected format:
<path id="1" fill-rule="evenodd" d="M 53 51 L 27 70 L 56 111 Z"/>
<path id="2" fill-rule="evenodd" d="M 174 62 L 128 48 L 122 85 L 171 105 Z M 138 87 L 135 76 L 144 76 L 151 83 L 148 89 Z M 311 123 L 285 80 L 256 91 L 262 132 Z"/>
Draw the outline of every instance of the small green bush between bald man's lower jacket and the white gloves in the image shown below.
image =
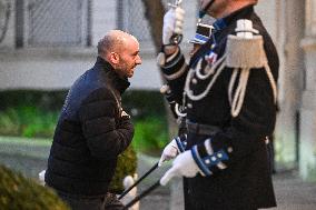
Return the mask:
<path id="1" fill-rule="evenodd" d="M 137 156 L 132 148 L 129 146 L 119 158 L 115 172 L 115 177 L 110 183 L 109 191 L 121 193 L 124 191 L 122 180 L 126 176 L 134 176 L 137 170 Z"/>

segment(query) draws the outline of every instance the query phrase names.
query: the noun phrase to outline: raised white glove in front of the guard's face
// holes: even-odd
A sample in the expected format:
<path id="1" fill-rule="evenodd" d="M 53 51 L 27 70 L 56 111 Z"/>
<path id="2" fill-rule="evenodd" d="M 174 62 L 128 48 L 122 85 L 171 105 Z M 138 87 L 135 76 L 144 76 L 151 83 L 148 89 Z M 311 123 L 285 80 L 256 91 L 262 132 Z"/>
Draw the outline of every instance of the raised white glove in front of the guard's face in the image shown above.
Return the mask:
<path id="1" fill-rule="evenodd" d="M 171 8 L 164 17 L 162 43 L 170 44 L 174 34 L 182 34 L 185 10 L 180 7 Z"/>

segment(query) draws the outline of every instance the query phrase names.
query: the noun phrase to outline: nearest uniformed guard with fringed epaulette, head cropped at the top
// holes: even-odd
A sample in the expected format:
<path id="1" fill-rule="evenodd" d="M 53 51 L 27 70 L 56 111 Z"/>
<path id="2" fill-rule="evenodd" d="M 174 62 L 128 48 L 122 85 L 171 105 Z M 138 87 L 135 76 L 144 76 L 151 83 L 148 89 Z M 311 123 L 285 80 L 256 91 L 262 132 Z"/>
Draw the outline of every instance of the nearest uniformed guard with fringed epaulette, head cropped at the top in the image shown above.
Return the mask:
<path id="1" fill-rule="evenodd" d="M 164 150 L 162 161 L 176 159 L 160 183 L 186 177 L 189 210 L 276 206 L 266 137 L 275 128 L 279 62 L 254 12 L 256 3 L 203 0 L 203 11 L 216 18 L 215 31 L 188 64 L 170 39 L 181 32 L 182 9 L 171 8 L 164 18 L 164 59 L 158 63 L 185 110 L 188 134 L 186 142 L 175 140 L 165 148 L 177 152 L 166 158 Z"/>

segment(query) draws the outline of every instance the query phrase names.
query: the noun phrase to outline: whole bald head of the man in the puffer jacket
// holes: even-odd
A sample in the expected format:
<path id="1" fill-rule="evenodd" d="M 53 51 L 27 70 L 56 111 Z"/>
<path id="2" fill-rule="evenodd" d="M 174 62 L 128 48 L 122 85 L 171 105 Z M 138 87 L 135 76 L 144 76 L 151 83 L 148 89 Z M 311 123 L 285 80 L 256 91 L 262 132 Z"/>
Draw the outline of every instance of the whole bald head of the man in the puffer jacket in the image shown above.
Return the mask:
<path id="1" fill-rule="evenodd" d="M 98 54 L 108 61 L 121 78 L 131 78 L 141 63 L 137 39 L 124 31 L 111 30 L 98 43 Z"/>

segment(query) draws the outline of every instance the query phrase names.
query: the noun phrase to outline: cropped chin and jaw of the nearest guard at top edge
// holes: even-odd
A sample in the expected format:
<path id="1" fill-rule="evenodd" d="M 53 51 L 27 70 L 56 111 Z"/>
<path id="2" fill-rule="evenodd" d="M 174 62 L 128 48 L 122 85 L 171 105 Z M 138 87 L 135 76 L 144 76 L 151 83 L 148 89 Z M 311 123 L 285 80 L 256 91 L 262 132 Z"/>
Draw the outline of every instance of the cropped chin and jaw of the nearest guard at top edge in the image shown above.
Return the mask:
<path id="1" fill-rule="evenodd" d="M 223 18 L 243 7 L 256 4 L 258 0 L 200 0 L 200 6 L 209 16 Z"/>

